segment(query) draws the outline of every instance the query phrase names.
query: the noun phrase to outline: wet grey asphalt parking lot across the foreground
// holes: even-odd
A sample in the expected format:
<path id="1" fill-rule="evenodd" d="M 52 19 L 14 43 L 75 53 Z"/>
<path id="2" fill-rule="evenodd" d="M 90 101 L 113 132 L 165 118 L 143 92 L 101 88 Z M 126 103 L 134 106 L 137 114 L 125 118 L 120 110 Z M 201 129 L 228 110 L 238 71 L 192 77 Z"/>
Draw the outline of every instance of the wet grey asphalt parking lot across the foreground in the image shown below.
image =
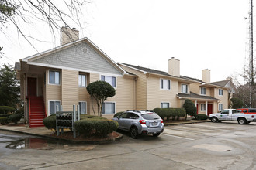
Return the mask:
<path id="1" fill-rule="evenodd" d="M 180 124 L 158 138 L 123 138 L 107 145 L 48 144 L 3 148 L 0 165 L 18 169 L 256 169 L 256 123 Z M 10 141 L 10 139 L 9 139 Z"/>

